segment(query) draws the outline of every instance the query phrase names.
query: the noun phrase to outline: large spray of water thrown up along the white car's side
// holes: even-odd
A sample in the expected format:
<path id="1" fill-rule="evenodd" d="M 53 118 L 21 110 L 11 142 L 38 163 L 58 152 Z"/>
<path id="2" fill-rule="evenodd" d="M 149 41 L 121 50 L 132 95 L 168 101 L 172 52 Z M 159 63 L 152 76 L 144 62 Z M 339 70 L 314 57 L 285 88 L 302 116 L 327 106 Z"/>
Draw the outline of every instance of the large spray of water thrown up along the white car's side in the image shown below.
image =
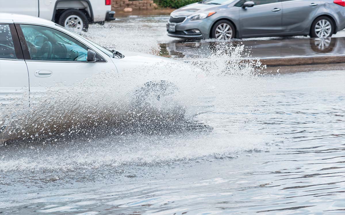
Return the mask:
<path id="1" fill-rule="evenodd" d="M 109 40 L 114 38 L 107 37 L 101 45 L 111 44 Z M 16 147 L 23 147 L 19 150 L 23 154 L 3 157 L 1 169 L 141 165 L 267 150 L 272 137 L 244 129 L 246 122 L 255 120 L 251 113 L 265 85 L 260 78 L 262 65 L 240 59 L 243 46 L 219 44 L 216 50 L 210 57 L 188 63 L 161 61 L 122 73 L 102 71 L 70 86 L 56 83 L 43 95 L 32 95 L 27 113 L 28 108 L 18 114 L 18 106 L 7 106 L 2 111 L 10 116 L 10 123 L 1 136 L 18 140 L 21 144 Z M 136 104 L 145 83 L 161 80 L 178 90 L 151 103 Z M 203 112 L 209 113 L 206 119 L 197 116 Z M 208 119 L 225 112 L 234 114 L 228 123 L 239 126 L 231 128 L 232 134 L 217 127 L 208 132 L 214 126 Z M 171 143 L 166 144 L 167 138 Z M 99 144 L 102 147 L 93 147 Z"/>

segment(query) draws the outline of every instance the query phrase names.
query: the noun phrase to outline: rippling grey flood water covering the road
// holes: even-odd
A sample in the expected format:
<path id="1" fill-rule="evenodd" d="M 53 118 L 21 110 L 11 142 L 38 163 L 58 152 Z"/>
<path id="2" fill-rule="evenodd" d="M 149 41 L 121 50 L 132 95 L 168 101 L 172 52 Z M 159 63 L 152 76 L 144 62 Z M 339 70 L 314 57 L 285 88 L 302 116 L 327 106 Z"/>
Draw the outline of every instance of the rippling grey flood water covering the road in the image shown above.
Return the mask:
<path id="1" fill-rule="evenodd" d="M 165 18 L 92 26 L 86 36 L 159 54 L 158 43 L 171 42 L 159 27 Z M 344 214 L 345 68 L 263 75 L 228 60 L 189 59 L 207 70 L 210 90 L 200 90 L 212 111 L 174 129 L 0 147 L 0 213 Z"/>

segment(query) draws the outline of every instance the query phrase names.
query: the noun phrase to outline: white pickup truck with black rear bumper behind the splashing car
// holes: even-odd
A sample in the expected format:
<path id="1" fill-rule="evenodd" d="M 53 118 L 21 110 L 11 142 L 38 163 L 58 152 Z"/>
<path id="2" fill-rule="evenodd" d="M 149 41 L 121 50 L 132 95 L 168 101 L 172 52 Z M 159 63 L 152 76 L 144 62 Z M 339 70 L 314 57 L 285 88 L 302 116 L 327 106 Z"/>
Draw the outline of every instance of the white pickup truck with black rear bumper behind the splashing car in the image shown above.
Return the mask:
<path id="1" fill-rule="evenodd" d="M 0 0 L 0 12 L 40 17 L 83 31 L 89 23 L 115 20 L 111 0 Z"/>

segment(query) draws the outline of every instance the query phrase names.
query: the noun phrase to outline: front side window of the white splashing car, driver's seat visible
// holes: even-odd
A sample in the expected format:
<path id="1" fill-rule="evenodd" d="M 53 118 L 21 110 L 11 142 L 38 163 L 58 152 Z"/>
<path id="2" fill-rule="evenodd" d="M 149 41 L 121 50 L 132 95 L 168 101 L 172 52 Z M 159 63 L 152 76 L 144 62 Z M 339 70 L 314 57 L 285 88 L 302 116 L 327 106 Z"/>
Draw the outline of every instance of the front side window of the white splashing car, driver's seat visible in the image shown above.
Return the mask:
<path id="1" fill-rule="evenodd" d="M 20 24 L 31 60 L 87 61 L 88 47 L 53 28 Z"/>

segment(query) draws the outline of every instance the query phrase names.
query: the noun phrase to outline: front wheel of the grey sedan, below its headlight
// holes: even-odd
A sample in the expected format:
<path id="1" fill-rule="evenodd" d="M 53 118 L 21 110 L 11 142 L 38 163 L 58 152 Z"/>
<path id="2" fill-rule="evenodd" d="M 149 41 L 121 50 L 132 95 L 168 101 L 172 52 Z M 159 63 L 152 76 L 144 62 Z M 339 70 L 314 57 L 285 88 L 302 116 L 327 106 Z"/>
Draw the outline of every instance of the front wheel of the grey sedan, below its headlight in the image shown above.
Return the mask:
<path id="1" fill-rule="evenodd" d="M 236 36 L 235 27 L 227 20 L 220 20 L 213 26 L 211 36 L 217 40 L 229 41 Z"/>

